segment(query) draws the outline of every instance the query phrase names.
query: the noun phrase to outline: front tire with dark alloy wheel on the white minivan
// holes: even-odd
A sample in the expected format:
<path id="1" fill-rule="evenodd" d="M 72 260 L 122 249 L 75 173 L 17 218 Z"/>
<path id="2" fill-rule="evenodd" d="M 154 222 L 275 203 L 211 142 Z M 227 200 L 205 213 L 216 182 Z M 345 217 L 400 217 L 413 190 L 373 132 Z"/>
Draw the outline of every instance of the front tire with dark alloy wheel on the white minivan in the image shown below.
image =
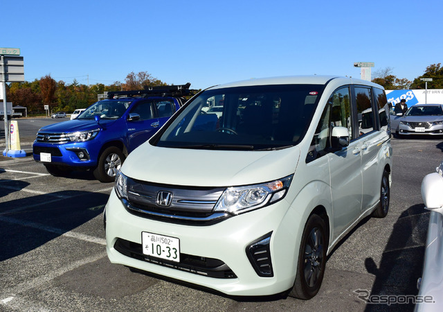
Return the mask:
<path id="1" fill-rule="evenodd" d="M 313 214 L 307 220 L 303 230 L 296 281 L 289 296 L 309 300 L 318 293 L 325 275 L 327 245 L 325 221 Z"/>

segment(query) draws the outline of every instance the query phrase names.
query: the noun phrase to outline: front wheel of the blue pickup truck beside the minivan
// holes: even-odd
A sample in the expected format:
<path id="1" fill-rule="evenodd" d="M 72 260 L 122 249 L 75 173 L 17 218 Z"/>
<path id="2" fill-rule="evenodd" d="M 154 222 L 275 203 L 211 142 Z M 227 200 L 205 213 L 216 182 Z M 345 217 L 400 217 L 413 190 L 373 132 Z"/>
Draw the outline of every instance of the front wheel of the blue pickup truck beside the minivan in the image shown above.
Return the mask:
<path id="1" fill-rule="evenodd" d="M 114 182 L 124 161 L 125 155 L 120 148 L 110 146 L 100 155 L 97 168 L 93 171 L 94 177 L 100 182 Z"/>

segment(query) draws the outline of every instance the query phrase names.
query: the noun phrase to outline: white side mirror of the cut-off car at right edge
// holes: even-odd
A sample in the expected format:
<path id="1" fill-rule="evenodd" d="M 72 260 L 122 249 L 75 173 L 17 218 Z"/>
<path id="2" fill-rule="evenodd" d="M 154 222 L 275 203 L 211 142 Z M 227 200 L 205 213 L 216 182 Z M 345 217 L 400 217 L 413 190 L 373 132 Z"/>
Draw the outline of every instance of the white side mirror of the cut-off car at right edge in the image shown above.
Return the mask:
<path id="1" fill-rule="evenodd" d="M 443 177 L 430 173 L 422 181 L 422 199 L 426 209 L 443 214 Z"/>

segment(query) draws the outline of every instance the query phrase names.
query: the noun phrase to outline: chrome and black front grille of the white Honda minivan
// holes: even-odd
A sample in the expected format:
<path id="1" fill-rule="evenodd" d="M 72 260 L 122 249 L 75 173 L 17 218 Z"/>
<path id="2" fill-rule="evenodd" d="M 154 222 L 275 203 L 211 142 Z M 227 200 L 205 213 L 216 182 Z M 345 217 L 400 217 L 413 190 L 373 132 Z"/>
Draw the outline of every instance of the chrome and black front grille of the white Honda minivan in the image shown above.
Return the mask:
<path id="1" fill-rule="evenodd" d="M 129 213 L 143 218 L 186 225 L 212 225 L 230 217 L 213 211 L 224 189 L 152 184 L 128 177 L 128 196 L 122 202 Z M 168 202 L 162 202 L 159 198 L 162 194 L 169 198 Z"/>

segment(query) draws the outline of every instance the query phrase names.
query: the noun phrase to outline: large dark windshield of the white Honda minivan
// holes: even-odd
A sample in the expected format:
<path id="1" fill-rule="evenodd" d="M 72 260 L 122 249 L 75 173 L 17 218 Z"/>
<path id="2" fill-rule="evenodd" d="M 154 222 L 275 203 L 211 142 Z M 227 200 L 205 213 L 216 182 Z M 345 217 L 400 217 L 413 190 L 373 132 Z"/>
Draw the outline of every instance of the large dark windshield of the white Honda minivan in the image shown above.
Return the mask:
<path id="1" fill-rule="evenodd" d="M 323 85 L 260 85 L 200 94 L 153 142 L 173 148 L 269 150 L 298 144 Z"/>

